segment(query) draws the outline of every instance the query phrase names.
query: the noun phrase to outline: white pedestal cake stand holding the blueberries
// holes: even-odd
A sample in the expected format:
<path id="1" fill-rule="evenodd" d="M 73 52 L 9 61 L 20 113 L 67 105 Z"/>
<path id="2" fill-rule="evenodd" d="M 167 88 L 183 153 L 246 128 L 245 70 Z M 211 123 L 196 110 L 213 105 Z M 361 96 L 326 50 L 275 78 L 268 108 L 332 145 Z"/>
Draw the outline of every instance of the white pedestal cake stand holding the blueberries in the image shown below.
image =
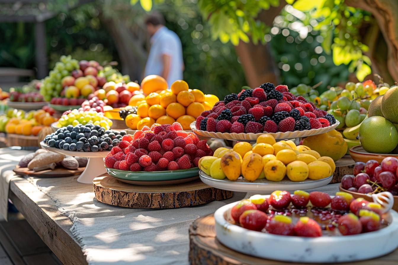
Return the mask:
<path id="1" fill-rule="evenodd" d="M 49 147 L 47 144 L 40 142 L 43 149 L 48 151 L 59 153 L 62 155 L 70 155 L 72 157 L 87 157 L 88 162 L 86 169 L 80 174 L 77 181 L 84 184 L 92 184 L 94 178 L 101 174 L 107 174 L 105 169 L 105 164 L 103 162 L 104 157 L 109 153 L 109 151 L 103 152 L 77 152 L 77 151 L 66 151 L 55 147 Z"/>

